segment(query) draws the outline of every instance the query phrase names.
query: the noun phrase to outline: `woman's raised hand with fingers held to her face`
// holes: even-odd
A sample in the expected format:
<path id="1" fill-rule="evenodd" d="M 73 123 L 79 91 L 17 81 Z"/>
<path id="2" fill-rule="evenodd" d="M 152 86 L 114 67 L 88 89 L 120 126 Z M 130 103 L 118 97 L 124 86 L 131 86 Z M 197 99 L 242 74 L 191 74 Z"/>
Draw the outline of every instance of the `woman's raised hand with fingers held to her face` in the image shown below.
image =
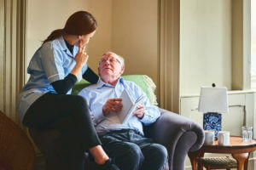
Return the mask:
<path id="1" fill-rule="evenodd" d="M 70 71 L 71 74 L 75 75 L 79 79 L 79 74 L 81 74 L 81 70 L 83 66 L 86 64 L 89 55 L 85 52 L 86 46 L 82 46 L 82 42 L 79 41 L 79 52 L 75 56 L 76 65 L 73 67 L 73 70 Z"/>

